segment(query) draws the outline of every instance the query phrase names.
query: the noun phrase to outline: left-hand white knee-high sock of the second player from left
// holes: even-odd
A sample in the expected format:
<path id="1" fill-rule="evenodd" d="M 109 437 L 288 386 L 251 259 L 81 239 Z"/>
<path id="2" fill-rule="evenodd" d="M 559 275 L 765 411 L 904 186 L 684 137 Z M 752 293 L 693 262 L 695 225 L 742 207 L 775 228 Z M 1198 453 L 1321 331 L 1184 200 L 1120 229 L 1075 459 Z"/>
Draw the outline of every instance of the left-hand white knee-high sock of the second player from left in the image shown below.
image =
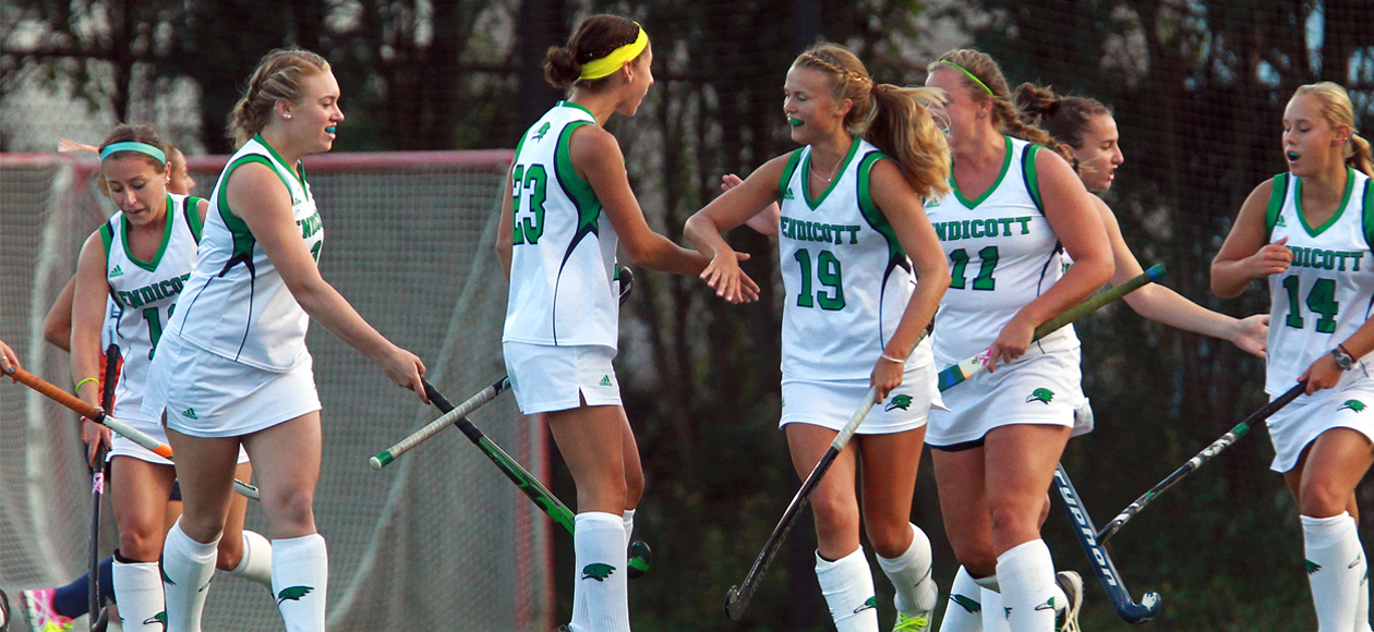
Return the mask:
<path id="1" fill-rule="evenodd" d="M 162 545 L 162 589 L 166 595 L 168 632 L 201 632 L 201 613 L 214 577 L 216 548 L 191 540 L 177 521 Z"/>

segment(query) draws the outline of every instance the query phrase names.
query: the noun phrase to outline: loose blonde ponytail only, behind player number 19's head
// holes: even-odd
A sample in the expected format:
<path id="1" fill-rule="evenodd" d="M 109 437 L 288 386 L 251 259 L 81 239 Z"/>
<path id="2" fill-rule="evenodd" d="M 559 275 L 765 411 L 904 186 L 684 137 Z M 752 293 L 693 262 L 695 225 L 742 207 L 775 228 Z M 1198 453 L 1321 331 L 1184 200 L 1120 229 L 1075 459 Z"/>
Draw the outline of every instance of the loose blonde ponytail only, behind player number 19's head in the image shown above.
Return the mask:
<path id="1" fill-rule="evenodd" d="M 872 87 L 872 122 L 863 139 L 901 165 L 901 174 L 921 198 L 949 192 L 949 146 L 926 110 L 944 99 L 934 88 Z"/>

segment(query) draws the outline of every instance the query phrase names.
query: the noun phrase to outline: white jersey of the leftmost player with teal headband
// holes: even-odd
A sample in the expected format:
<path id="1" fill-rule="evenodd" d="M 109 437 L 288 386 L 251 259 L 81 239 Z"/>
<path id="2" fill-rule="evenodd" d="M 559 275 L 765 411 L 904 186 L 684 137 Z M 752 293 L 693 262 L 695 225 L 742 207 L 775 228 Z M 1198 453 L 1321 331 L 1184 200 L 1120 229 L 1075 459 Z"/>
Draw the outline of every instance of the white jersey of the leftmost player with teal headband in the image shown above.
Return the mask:
<path id="1" fill-rule="evenodd" d="M 201 239 L 198 202 L 199 198 L 168 194 L 162 246 L 151 261 L 142 261 L 129 251 L 129 221 L 124 213 L 115 213 L 100 227 L 106 282 L 114 306 L 104 328 L 110 342 L 120 345 L 124 356 L 124 370 L 114 390 L 115 409 L 111 412 L 115 418 L 153 422 L 140 404 L 162 327 L 195 267 L 196 242 Z"/>

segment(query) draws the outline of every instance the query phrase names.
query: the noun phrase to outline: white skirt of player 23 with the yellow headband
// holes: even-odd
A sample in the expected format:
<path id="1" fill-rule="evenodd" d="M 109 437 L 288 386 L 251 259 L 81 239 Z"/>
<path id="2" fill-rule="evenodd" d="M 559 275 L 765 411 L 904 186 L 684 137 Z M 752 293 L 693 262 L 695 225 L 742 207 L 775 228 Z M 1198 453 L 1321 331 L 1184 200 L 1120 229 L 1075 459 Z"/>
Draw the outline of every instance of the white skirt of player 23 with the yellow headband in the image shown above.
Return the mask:
<path id="1" fill-rule="evenodd" d="M 525 415 L 570 411 L 583 401 L 621 405 L 613 346 L 503 342 L 502 350 L 515 404 Z"/>

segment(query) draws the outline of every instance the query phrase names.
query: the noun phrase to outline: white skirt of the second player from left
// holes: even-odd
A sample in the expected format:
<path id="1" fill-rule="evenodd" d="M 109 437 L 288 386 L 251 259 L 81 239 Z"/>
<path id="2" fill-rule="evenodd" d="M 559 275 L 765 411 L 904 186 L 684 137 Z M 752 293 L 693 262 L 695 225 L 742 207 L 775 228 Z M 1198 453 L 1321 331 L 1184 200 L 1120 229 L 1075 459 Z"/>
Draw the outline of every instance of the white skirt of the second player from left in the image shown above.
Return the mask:
<path id="1" fill-rule="evenodd" d="M 166 331 L 148 370 L 143 412 L 192 437 L 242 437 L 320 409 L 309 353 L 286 372 L 264 371 Z"/>

